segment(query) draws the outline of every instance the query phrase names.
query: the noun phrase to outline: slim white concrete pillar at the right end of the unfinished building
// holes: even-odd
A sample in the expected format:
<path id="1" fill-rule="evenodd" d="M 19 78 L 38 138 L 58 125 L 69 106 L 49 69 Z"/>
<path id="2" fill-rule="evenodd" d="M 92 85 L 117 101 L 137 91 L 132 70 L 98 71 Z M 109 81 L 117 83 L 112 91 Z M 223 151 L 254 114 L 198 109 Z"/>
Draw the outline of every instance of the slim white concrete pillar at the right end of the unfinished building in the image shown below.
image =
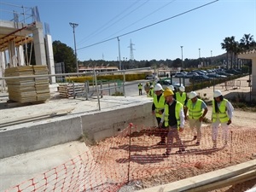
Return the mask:
<path id="1" fill-rule="evenodd" d="M 46 52 L 47 52 L 47 63 L 49 68 L 49 74 L 55 74 L 55 61 L 52 49 L 52 39 L 50 35 L 45 35 L 45 44 L 46 44 Z M 56 83 L 55 77 L 50 77 L 50 84 Z"/>

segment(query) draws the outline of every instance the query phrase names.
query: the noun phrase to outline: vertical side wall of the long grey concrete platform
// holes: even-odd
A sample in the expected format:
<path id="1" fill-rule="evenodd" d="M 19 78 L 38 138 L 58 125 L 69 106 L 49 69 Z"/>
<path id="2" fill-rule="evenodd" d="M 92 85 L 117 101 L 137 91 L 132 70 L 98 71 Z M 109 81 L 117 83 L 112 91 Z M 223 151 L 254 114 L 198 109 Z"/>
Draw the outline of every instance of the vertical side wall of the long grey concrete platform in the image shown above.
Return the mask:
<path id="1" fill-rule="evenodd" d="M 154 125 L 152 102 L 116 110 L 59 117 L 40 123 L 15 125 L 0 131 L 0 159 L 41 148 L 78 140 L 85 135 L 92 141 L 112 137 L 129 123 Z M 51 121 L 51 122 L 49 122 Z"/>

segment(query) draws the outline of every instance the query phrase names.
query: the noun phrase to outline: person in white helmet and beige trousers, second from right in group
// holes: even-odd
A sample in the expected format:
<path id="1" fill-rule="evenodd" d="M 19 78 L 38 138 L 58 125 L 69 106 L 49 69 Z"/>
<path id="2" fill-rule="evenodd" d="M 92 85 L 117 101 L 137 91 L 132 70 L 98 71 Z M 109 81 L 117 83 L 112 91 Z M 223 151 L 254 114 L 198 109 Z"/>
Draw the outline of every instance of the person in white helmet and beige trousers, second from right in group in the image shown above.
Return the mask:
<path id="1" fill-rule="evenodd" d="M 201 99 L 197 98 L 195 91 L 189 93 L 189 101 L 185 105 L 184 113 L 185 120 L 188 119 L 187 113 L 189 111 L 189 128 L 194 133 L 193 140 L 196 140 L 196 145 L 201 143 L 201 123 L 207 114 L 207 104 Z"/>

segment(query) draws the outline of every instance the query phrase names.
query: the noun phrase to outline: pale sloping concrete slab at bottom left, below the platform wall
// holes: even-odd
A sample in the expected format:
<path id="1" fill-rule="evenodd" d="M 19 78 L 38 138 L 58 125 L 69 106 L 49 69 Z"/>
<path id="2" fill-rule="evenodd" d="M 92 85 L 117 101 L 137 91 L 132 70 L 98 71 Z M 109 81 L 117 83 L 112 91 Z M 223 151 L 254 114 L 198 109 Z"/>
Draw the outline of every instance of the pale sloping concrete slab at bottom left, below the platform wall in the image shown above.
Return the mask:
<path id="1" fill-rule="evenodd" d="M 38 176 L 88 152 L 82 142 L 71 142 L 0 160 L 0 191 Z"/>

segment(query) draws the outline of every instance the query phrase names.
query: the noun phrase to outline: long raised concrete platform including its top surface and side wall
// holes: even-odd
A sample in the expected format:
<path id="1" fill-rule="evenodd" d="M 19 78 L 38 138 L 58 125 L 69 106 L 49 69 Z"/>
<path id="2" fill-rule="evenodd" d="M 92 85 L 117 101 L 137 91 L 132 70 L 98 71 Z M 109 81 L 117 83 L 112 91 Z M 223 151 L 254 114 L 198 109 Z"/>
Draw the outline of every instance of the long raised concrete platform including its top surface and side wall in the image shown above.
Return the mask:
<path id="1" fill-rule="evenodd" d="M 137 97 L 104 96 L 101 100 L 102 111 L 97 110 L 96 100 L 67 99 L 67 104 L 58 106 L 61 102 L 53 100 L 39 106 L 17 108 L 15 113 L 20 115 L 12 119 L 2 114 L 0 159 L 73 142 L 82 136 L 92 142 L 100 141 L 113 137 L 129 123 L 154 125 L 152 101 L 147 97 L 138 100 Z M 27 114 L 26 111 L 36 114 Z"/>

